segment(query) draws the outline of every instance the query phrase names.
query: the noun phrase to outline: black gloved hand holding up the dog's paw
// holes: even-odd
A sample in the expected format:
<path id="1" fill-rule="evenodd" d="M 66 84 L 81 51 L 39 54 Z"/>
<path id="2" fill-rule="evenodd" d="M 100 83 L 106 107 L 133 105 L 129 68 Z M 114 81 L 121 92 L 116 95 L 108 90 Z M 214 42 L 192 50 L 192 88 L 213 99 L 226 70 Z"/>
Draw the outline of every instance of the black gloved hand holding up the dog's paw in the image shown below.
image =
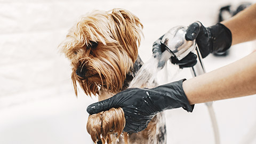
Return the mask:
<path id="1" fill-rule="evenodd" d="M 87 112 L 96 114 L 121 107 L 126 120 L 124 131 L 140 132 L 146 129 L 150 120 L 160 111 L 182 107 L 192 112 L 194 105 L 191 106 L 188 102 L 182 88 L 183 81 L 185 79 L 153 89 L 127 89 L 109 99 L 93 103 L 87 107 Z"/>

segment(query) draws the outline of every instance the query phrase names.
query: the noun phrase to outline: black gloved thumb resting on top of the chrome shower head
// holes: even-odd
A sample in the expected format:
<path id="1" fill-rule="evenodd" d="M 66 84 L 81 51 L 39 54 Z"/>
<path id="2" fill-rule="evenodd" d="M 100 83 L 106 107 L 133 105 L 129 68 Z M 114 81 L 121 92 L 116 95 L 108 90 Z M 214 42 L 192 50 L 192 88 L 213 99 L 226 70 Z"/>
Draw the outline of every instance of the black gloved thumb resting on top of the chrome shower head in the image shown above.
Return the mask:
<path id="1" fill-rule="evenodd" d="M 188 26 L 186 31 L 185 38 L 187 41 L 193 41 L 198 36 L 200 29 L 202 27 L 202 23 L 197 21 Z"/>

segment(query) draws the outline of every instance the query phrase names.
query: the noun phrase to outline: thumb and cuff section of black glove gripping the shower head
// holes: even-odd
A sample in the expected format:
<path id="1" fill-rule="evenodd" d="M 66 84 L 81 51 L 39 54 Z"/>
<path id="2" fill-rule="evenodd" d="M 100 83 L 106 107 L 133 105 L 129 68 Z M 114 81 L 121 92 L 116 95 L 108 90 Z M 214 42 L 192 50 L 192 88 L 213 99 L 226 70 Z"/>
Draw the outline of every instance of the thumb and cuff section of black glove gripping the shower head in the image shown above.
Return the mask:
<path id="1" fill-rule="evenodd" d="M 206 28 L 199 21 L 188 27 L 185 38 L 187 41 L 196 39 L 202 58 L 209 53 L 227 51 L 232 42 L 231 31 L 226 26 L 217 23 Z"/>

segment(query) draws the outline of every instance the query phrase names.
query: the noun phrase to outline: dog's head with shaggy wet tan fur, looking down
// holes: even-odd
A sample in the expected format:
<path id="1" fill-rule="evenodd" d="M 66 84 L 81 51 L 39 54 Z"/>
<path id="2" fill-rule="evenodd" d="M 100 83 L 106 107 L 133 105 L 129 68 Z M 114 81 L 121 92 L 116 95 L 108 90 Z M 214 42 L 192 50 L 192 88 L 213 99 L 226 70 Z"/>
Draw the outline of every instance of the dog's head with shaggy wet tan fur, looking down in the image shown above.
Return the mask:
<path id="1" fill-rule="evenodd" d="M 138 57 L 142 27 L 123 9 L 84 15 L 59 46 L 71 61 L 75 93 L 77 83 L 87 95 L 120 91 Z"/>

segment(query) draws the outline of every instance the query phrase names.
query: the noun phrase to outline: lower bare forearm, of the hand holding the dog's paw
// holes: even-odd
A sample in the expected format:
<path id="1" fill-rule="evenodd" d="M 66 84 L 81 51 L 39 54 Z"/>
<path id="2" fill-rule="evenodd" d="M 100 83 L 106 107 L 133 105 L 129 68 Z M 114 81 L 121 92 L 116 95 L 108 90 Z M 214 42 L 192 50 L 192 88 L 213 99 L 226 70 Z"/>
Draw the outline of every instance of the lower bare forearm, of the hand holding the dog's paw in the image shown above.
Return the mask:
<path id="1" fill-rule="evenodd" d="M 230 65 L 183 82 L 190 104 L 256 93 L 256 52 Z"/>

